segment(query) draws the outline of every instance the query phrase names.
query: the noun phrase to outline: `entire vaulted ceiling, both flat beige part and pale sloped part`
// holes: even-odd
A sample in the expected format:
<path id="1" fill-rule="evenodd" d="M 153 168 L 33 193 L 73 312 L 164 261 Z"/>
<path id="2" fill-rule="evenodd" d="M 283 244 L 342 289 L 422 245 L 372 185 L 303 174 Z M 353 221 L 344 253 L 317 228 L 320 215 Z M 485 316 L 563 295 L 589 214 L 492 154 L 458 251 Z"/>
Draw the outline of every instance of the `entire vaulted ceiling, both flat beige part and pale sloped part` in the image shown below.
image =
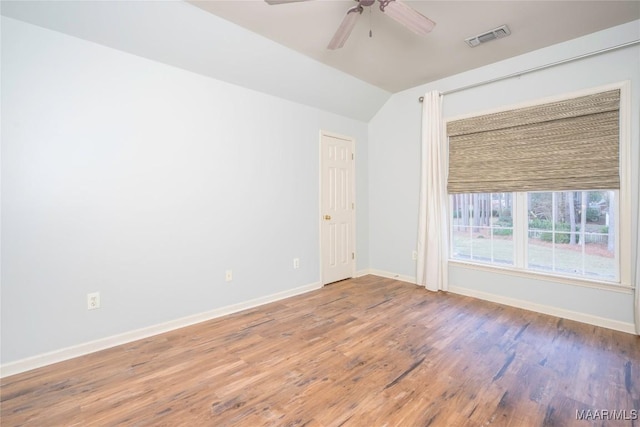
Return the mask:
<path id="1" fill-rule="evenodd" d="M 405 2 L 436 22 L 430 34 L 411 33 L 376 3 L 338 50 L 326 46 L 352 0 L 2 0 L 0 11 L 361 121 L 392 93 L 640 19 L 638 0 Z M 509 37 L 464 42 L 503 24 Z"/>

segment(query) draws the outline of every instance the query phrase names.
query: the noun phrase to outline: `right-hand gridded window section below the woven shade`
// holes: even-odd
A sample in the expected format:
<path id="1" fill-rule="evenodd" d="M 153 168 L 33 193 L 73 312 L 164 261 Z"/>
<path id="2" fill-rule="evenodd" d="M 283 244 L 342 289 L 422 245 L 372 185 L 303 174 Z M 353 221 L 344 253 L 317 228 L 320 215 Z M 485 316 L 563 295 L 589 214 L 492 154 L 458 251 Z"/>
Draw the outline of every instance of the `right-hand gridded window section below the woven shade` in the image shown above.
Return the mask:
<path id="1" fill-rule="evenodd" d="M 528 193 L 527 267 L 617 279 L 614 191 Z"/>

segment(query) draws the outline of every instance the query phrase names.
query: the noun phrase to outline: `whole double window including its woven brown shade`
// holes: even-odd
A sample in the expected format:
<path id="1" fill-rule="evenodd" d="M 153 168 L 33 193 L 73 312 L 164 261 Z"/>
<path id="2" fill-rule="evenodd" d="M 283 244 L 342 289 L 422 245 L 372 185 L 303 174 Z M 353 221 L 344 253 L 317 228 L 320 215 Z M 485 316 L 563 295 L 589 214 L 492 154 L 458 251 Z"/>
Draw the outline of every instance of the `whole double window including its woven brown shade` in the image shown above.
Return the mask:
<path id="1" fill-rule="evenodd" d="M 629 285 L 628 91 L 449 121 L 450 258 Z"/>

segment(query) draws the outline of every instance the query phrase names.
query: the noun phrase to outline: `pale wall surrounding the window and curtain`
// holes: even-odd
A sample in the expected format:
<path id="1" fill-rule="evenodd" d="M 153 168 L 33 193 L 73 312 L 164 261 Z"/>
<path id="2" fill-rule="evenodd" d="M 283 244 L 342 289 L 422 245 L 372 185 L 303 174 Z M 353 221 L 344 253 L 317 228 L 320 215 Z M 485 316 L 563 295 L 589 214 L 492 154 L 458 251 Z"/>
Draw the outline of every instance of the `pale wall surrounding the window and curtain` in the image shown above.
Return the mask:
<path id="1" fill-rule="evenodd" d="M 411 251 L 416 247 L 418 224 L 419 96 L 429 90 L 448 91 L 639 38 L 640 22 L 635 21 L 393 95 L 369 124 L 371 269 L 415 278 L 416 266 L 411 260 Z M 490 48 L 490 45 L 477 49 L 485 47 Z M 632 88 L 631 216 L 637 218 L 639 45 L 446 95 L 444 116 L 452 118 L 483 112 L 624 80 L 631 80 Z M 638 239 L 636 220 L 625 232 L 634 236 L 630 257 L 634 260 Z M 627 262 L 632 262 L 630 260 Z M 630 290 L 617 292 L 576 287 L 460 266 L 450 266 L 449 276 L 450 285 L 457 287 L 459 292 L 632 330 L 633 294 Z"/>

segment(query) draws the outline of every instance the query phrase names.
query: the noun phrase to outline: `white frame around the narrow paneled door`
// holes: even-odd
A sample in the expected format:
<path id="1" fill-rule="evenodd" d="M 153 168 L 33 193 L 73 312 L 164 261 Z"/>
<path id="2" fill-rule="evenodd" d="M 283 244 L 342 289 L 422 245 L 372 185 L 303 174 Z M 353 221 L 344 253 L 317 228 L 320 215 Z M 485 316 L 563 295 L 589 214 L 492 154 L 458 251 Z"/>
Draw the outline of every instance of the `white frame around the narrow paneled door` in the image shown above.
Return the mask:
<path id="1" fill-rule="evenodd" d="M 351 194 L 353 195 L 353 209 L 351 209 L 351 242 L 352 242 L 352 251 L 354 257 L 351 259 L 351 277 L 356 277 L 356 209 L 358 208 L 356 205 L 356 140 L 350 136 L 341 135 L 335 132 L 329 132 L 325 130 L 320 130 L 320 135 L 318 139 L 318 247 L 320 250 L 319 262 L 320 262 L 320 287 L 324 287 L 326 285 L 324 278 L 324 247 L 322 245 L 322 225 L 323 225 L 323 206 L 322 206 L 322 138 L 324 136 L 328 136 L 331 138 L 341 139 L 349 143 L 351 148 L 351 153 L 353 154 L 353 162 L 351 162 Z"/>

